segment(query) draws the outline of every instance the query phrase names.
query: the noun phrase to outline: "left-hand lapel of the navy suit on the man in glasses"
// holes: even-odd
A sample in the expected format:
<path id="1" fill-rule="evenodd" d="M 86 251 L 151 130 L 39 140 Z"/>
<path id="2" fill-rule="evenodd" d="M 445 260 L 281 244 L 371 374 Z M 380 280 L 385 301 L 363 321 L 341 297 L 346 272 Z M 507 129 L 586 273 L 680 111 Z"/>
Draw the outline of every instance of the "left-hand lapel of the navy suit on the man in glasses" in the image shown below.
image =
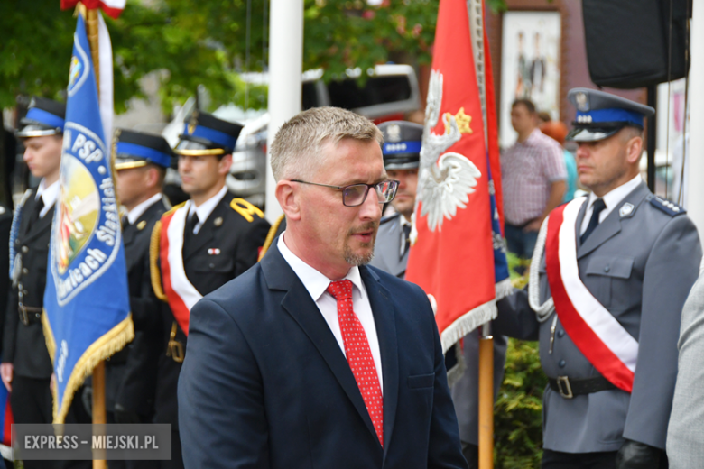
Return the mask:
<path id="1" fill-rule="evenodd" d="M 372 419 L 366 410 L 365 401 L 359 392 L 355 376 L 349 368 L 349 363 L 347 363 L 345 355 L 339 348 L 338 341 L 332 335 L 328 323 L 325 322 L 325 319 L 320 314 L 318 306 L 310 298 L 308 290 L 305 289 L 301 280 L 292 271 L 288 262 L 283 259 L 278 247 L 276 247 L 276 240 L 272 243 L 272 247 L 262 259 L 261 264 L 269 289 L 287 291 L 281 303 L 283 309 L 291 315 L 318 349 L 323 360 L 328 364 L 330 371 L 335 375 L 343 391 L 347 394 L 347 398 L 349 398 L 352 405 L 357 409 L 359 416 L 364 420 L 366 428 L 376 437 Z M 382 356 L 384 356 L 383 351 Z M 383 368 L 384 365 L 382 365 Z M 384 420 L 385 413 L 384 398 Z M 385 426 L 386 424 L 384 423 L 384 431 Z"/>

